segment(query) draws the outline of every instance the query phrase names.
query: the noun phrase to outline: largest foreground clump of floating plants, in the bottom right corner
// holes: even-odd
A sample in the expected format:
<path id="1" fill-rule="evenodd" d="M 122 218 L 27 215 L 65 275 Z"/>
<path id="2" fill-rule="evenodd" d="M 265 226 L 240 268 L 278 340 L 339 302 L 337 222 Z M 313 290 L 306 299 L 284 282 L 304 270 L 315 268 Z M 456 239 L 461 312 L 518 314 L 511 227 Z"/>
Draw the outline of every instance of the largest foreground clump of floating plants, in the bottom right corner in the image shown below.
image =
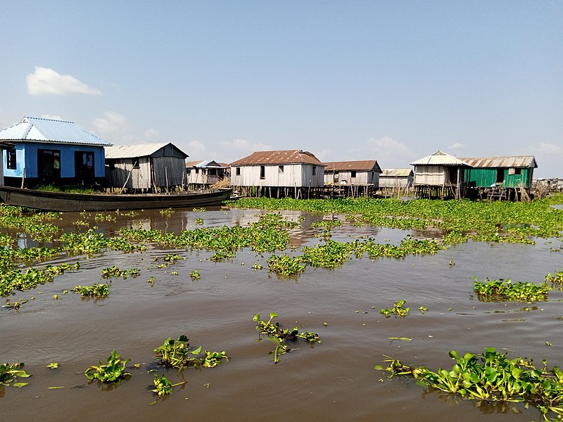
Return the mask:
<path id="1" fill-rule="evenodd" d="M 467 399 L 526 402 L 540 409 L 546 419 L 550 412 L 563 416 L 563 371 L 557 366 L 548 369 L 543 361 L 543 368 L 536 368 L 531 360 L 507 359 L 493 347 L 486 347 L 483 354 L 466 353 L 462 357 L 452 350 L 450 357 L 456 363 L 449 371 L 407 366 L 396 359 L 386 361 L 386 371 L 389 378 L 413 376 L 420 385 Z M 382 368 L 377 365 L 376 369 Z"/>

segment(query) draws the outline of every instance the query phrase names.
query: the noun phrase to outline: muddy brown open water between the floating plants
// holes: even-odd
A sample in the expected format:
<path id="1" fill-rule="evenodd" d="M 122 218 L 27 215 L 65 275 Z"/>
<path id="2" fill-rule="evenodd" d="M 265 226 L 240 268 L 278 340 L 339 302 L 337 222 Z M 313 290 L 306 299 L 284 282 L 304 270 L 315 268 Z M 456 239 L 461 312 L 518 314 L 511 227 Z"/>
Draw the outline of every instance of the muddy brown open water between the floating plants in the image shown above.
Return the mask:
<path id="1" fill-rule="evenodd" d="M 256 210 L 217 209 L 208 212 L 177 210 L 172 215 L 140 212 L 115 222 L 98 222 L 107 236 L 120 226 L 181 232 L 203 218 L 207 226 L 248 224 Z M 301 212 L 282 212 L 296 218 Z M 320 219 L 303 213 L 308 227 Z M 82 219 L 67 214 L 55 224 L 72 230 Z M 314 245 L 317 231 L 291 231 L 291 244 Z M 361 236 L 379 243 L 399 243 L 415 232 L 354 227 L 333 229 L 334 239 Z M 32 245 L 25 237 L 20 245 Z M 80 257 L 81 269 L 56 277 L 53 283 L 17 293 L 11 300 L 34 300 L 15 311 L 0 311 L 0 362 L 25 362 L 32 374 L 24 388 L 0 387 L 1 421 L 531 421 L 535 409 L 521 404 L 492 407 L 428 392 L 412 381 L 388 381 L 374 369 L 384 356 L 438 369 L 451 367 L 450 350 L 482 352 L 496 347 L 510 357 L 530 357 L 537 364 L 563 365 L 563 293 L 550 292 L 548 302 L 485 303 L 473 294 L 473 277 L 543 281 L 545 274 L 563 267 L 561 241 L 537 239 L 536 245 L 474 243 L 456 245 L 436 255 L 404 260 L 351 259 L 334 270 L 308 267 L 297 279 L 278 278 L 267 267 L 269 253 L 249 250 L 232 261 L 211 262 L 208 251 L 163 250 L 144 253 L 107 252 Z M 167 268 L 156 267 L 156 257 L 178 253 Z M 291 252 L 291 251 L 287 251 Z M 60 262 L 75 262 L 65 257 Z M 450 260 L 455 265 L 450 266 Z M 160 262 L 158 262 L 160 263 Z M 101 269 L 139 268 L 135 279 L 113 279 L 110 295 L 83 300 L 68 293 L 77 284 L 103 281 Z M 198 270 L 201 279 L 192 280 Z M 177 271 L 178 275 L 172 275 Z M 154 276 L 151 286 L 146 281 Z M 58 294 L 59 300 L 53 299 Z M 407 301 L 410 315 L 386 319 L 379 309 Z M 428 311 L 421 314 L 419 306 Z M 322 344 L 296 343 L 279 364 L 268 354 L 269 340 L 257 341 L 253 314 L 279 314 L 284 326 L 315 331 Z M 326 323 L 326 325 L 324 324 Z M 215 369 L 164 371 L 155 364 L 153 349 L 168 338 L 186 334 L 192 346 L 224 350 L 229 362 Z M 390 340 L 407 337 L 412 341 Z M 551 346 L 546 345 L 551 343 Z M 84 370 L 117 350 L 129 364 L 132 377 L 116 388 L 87 384 Z M 60 362 L 59 369 L 47 369 Z M 156 404 L 150 392 L 151 370 L 165 373 L 173 383 L 185 380 L 170 397 Z M 62 387 L 55 388 L 53 387 Z"/>

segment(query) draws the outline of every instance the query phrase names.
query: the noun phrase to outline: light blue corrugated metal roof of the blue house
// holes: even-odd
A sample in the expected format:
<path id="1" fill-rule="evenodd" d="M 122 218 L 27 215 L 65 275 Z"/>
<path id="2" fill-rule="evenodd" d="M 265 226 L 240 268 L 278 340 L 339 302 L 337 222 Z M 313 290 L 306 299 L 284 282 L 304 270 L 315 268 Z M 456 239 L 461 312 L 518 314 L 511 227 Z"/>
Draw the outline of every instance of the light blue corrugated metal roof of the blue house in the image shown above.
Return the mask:
<path id="1" fill-rule="evenodd" d="M 55 143 L 74 143 L 80 145 L 111 145 L 105 139 L 86 132 L 73 122 L 64 120 L 23 117 L 22 121 L 0 131 L 0 139 L 5 141 L 37 141 Z"/>

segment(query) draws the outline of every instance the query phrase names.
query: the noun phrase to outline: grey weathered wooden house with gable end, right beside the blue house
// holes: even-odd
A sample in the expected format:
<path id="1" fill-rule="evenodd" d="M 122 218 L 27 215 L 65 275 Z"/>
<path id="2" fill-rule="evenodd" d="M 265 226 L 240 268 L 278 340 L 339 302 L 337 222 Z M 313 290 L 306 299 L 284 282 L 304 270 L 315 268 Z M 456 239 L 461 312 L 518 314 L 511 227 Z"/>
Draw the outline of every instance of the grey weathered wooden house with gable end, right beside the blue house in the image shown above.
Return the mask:
<path id="1" fill-rule="evenodd" d="M 188 155 L 172 143 L 106 148 L 106 179 L 112 188 L 160 191 L 186 185 Z"/>

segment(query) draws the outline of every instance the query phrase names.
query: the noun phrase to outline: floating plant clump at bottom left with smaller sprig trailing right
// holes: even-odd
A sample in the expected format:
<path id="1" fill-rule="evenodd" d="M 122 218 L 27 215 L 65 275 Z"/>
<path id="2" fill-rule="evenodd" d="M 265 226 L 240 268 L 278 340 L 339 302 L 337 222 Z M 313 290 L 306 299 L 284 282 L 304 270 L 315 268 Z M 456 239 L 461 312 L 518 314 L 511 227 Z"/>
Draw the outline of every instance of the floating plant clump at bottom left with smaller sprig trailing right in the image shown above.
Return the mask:
<path id="1" fill-rule="evenodd" d="M 186 335 L 180 335 L 177 340 L 167 338 L 163 345 L 157 347 L 154 352 L 161 365 L 175 369 L 182 369 L 187 366 L 214 368 L 222 364 L 223 359 L 229 360 L 224 351 L 210 352 L 203 350 L 202 354 L 201 346 L 195 350 L 190 350 L 189 338 Z"/>

